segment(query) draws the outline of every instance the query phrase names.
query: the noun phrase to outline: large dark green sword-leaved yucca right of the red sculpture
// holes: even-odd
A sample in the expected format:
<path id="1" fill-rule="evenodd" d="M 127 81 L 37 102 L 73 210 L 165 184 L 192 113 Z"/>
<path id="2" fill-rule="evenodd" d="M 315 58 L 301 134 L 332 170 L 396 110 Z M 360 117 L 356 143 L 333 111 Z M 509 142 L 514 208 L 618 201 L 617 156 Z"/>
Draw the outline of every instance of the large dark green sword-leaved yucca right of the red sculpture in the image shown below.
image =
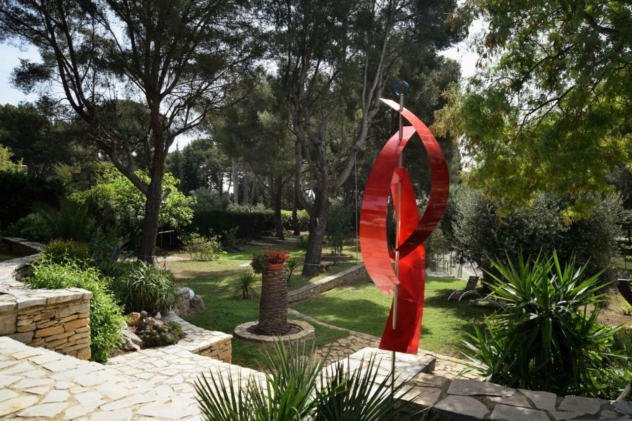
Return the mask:
<path id="1" fill-rule="evenodd" d="M 464 339 L 465 355 L 484 367 L 488 381 L 559 395 L 599 395 L 600 372 L 612 360 L 613 335 L 621 327 L 597 322 L 604 300 L 601 274 L 585 276 L 574 257 L 564 267 L 553 252 L 524 259 L 518 266 L 492 261 L 500 276 L 489 274 L 492 296 L 507 303 L 475 326 Z"/>

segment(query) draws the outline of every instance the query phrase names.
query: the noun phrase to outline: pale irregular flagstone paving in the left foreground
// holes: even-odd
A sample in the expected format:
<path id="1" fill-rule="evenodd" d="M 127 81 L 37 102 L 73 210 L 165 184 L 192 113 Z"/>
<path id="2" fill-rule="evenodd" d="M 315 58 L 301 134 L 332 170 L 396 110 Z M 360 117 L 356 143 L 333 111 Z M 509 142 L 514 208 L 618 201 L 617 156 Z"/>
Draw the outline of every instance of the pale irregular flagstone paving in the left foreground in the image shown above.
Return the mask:
<path id="1" fill-rule="evenodd" d="M 178 345 L 102 365 L 0 337 L 0 418 L 198 420 L 193 382 L 209 370 L 236 385 L 262 376 Z"/>

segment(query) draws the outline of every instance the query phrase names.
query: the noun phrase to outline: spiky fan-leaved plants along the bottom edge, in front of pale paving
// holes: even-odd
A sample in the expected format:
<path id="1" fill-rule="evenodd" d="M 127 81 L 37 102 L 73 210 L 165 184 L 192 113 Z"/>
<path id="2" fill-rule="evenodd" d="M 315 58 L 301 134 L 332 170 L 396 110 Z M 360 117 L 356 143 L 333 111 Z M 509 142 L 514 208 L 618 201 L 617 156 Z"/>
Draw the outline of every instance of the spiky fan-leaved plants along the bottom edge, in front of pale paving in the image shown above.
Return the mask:
<path id="1" fill-rule="evenodd" d="M 293 420 L 408 420 L 423 419 L 425 410 L 404 412 L 395 396 L 406 393 L 403 383 L 391 389 L 390 377 L 378 379 L 375 358 L 351 370 L 339 362 L 325 370 L 315 359 L 313 344 L 290 345 L 277 341 L 264 353 L 264 377 L 245 384 L 219 372 L 195 382 L 200 413 L 214 421 Z M 345 368 L 346 367 L 346 368 Z"/>

